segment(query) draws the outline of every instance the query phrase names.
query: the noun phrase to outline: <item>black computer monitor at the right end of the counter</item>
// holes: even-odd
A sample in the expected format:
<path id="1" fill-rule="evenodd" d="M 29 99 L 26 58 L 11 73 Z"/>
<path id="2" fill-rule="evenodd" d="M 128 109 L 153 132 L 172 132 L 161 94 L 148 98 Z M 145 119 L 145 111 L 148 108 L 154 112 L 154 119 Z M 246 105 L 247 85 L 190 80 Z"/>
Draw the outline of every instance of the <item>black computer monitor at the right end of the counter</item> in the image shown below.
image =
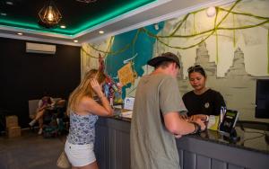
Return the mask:
<path id="1" fill-rule="evenodd" d="M 269 79 L 256 80 L 255 117 L 269 119 Z"/>

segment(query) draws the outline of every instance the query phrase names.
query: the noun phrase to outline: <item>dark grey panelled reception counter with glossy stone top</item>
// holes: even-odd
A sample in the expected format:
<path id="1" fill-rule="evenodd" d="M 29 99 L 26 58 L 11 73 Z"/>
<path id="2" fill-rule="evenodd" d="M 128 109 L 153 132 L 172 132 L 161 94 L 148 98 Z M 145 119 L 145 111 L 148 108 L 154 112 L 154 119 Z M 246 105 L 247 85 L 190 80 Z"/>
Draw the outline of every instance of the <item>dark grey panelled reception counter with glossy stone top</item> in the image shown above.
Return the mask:
<path id="1" fill-rule="evenodd" d="M 268 169 L 269 143 L 265 131 L 237 129 L 231 142 L 212 130 L 177 139 L 182 169 Z M 130 120 L 100 118 L 96 126 L 95 153 L 100 169 L 130 168 Z"/>

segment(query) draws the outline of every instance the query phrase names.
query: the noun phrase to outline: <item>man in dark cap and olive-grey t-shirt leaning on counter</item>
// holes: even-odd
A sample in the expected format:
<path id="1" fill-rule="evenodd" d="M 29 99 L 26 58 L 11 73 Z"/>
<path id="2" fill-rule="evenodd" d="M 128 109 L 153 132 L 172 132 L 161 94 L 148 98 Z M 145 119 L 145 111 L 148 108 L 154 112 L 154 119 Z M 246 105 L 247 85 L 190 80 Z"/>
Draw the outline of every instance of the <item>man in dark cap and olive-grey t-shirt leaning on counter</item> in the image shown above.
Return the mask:
<path id="1" fill-rule="evenodd" d="M 201 120 L 180 118 L 178 57 L 164 53 L 152 58 L 151 75 L 143 76 L 137 86 L 131 122 L 132 169 L 178 169 L 176 138 L 204 130 Z"/>

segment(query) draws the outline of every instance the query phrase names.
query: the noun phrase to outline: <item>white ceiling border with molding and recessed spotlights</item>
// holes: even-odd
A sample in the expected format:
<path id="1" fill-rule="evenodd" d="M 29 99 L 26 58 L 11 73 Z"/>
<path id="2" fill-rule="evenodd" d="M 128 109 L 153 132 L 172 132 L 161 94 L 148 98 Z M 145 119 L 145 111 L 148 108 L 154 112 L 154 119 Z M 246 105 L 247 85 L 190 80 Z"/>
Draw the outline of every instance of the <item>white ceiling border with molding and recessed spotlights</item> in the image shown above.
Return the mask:
<path id="1" fill-rule="evenodd" d="M 85 42 L 102 40 L 108 36 L 165 21 L 182 14 L 193 12 L 197 9 L 229 4 L 234 1 L 235 0 L 159 0 L 156 3 L 138 8 L 133 12 L 123 14 L 109 22 L 101 23 L 90 30 L 83 31 L 75 37 L 48 32 L 19 30 L 7 26 L 0 26 L 0 37 L 80 46 Z M 100 30 L 105 31 L 105 33 L 100 35 Z M 23 32 L 23 36 L 17 35 L 17 32 Z M 73 40 L 78 40 L 79 42 L 74 43 Z"/>

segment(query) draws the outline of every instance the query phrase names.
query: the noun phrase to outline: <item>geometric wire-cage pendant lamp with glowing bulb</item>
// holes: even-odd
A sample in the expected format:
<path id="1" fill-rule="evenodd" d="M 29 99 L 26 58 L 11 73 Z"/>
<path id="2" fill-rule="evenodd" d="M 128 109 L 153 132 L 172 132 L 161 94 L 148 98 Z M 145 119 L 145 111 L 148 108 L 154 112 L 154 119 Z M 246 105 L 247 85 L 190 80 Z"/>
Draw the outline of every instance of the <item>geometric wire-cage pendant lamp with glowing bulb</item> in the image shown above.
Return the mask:
<path id="1" fill-rule="evenodd" d="M 41 20 L 39 24 L 46 28 L 53 28 L 62 19 L 62 14 L 57 9 L 53 0 L 48 0 L 43 8 L 39 11 L 39 18 Z"/>

